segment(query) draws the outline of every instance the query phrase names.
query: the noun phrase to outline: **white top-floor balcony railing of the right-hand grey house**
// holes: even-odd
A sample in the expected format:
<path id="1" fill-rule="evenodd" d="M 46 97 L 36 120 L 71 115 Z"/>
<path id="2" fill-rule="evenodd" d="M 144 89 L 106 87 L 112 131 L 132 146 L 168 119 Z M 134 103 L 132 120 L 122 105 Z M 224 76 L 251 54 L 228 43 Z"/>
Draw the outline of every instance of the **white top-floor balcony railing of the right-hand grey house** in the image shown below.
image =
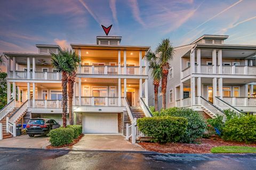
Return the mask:
<path id="1" fill-rule="evenodd" d="M 244 65 L 201 65 L 195 66 L 195 73 L 199 74 L 232 74 L 232 75 L 256 75 L 256 66 L 244 66 Z M 186 78 L 191 74 L 190 66 L 182 70 L 181 78 Z"/>

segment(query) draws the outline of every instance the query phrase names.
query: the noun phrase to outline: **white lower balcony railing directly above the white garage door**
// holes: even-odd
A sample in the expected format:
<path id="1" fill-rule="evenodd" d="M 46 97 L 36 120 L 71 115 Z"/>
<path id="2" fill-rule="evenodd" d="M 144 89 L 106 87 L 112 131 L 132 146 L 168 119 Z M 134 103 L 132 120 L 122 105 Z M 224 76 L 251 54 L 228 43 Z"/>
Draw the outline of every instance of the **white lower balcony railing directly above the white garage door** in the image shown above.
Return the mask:
<path id="1" fill-rule="evenodd" d="M 79 97 L 75 98 L 75 105 L 80 105 Z M 81 106 L 119 106 L 118 97 L 81 97 Z M 121 97 L 121 106 L 124 106 L 123 97 Z"/>

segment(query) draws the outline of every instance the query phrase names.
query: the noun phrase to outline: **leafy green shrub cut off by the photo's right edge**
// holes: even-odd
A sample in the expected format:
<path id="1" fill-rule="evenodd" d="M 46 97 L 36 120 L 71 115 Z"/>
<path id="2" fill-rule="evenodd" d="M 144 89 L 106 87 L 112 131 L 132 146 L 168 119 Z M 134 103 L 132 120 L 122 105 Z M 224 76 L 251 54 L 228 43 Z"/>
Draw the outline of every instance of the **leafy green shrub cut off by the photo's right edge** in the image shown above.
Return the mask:
<path id="1" fill-rule="evenodd" d="M 223 139 L 228 141 L 256 142 L 256 116 L 234 117 L 225 123 Z"/>

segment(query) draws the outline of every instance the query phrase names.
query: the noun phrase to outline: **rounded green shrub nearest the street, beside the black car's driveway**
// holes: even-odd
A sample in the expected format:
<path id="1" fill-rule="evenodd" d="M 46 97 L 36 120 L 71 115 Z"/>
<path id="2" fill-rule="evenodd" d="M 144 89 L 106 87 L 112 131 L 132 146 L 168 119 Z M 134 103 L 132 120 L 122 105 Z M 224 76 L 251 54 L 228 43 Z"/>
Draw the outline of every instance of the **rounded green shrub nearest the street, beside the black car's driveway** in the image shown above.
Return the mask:
<path id="1" fill-rule="evenodd" d="M 68 145 L 73 142 L 74 130 L 73 128 L 58 128 L 53 129 L 47 134 L 50 137 L 52 146 Z"/>

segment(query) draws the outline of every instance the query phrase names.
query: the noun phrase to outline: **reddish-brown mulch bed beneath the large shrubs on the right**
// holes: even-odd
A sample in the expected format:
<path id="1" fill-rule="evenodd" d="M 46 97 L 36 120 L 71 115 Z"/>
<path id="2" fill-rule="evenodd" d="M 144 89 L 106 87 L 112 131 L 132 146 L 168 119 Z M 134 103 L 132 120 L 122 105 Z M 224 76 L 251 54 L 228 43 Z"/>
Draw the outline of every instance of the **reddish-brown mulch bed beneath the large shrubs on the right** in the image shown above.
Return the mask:
<path id="1" fill-rule="evenodd" d="M 151 143 L 141 142 L 139 145 L 149 151 L 156 151 L 161 153 L 181 153 L 181 154 L 206 154 L 211 153 L 212 147 L 218 146 L 250 146 L 256 147 L 256 143 L 246 144 L 245 142 L 230 142 L 223 141 L 219 137 L 211 137 L 210 139 L 201 139 L 194 143 Z"/>

